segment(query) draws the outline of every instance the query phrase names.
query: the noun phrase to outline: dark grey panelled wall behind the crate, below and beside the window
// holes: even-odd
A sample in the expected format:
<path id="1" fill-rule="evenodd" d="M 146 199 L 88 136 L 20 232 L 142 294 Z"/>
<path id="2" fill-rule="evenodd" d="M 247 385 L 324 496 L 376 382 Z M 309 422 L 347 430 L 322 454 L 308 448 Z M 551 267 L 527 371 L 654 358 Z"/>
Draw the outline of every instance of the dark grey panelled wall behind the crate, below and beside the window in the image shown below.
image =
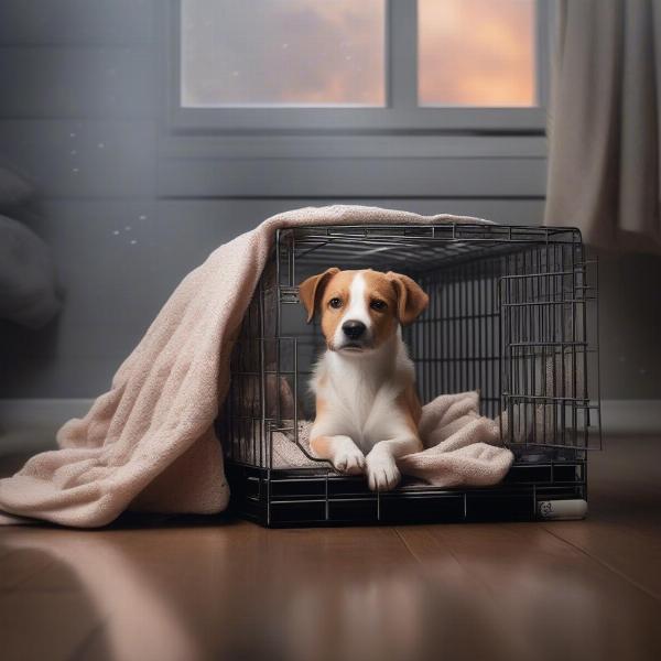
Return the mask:
<path id="1" fill-rule="evenodd" d="M 154 0 L 0 1 L 0 155 L 35 184 L 22 217 L 52 246 L 67 295 L 48 328 L 0 327 L 0 398 L 106 390 L 178 280 L 280 210 L 354 202 L 541 221 L 541 137 L 371 139 L 350 159 L 346 138 L 325 139 L 318 158 L 292 156 L 280 137 L 264 140 L 268 160 L 261 143 L 237 153 L 231 140 L 173 138 L 156 18 Z M 661 399 L 660 263 L 603 267 L 603 395 Z"/>

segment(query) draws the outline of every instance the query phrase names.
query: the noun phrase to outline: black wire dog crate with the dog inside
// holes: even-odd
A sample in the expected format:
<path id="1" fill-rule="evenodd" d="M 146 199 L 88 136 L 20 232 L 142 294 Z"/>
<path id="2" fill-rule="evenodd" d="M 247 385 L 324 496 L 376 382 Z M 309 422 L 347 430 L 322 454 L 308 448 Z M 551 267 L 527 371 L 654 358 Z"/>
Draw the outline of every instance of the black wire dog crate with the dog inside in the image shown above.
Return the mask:
<path id="1" fill-rule="evenodd" d="M 404 340 L 421 401 L 480 391 L 507 415 L 516 460 L 487 488 L 403 477 L 372 492 L 301 443 L 314 419 L 308 380 L 323 350 L 297 284 L 328 267 L 413 278 L 430 305 Z M 219 416 L 230 508 L 263 525 L 328 525 L 562 514 L 587 498 L 587 451 L 600 447 L 596 262 L 576 229 L 448 223 L 281 229 L 231 358 Z"/>

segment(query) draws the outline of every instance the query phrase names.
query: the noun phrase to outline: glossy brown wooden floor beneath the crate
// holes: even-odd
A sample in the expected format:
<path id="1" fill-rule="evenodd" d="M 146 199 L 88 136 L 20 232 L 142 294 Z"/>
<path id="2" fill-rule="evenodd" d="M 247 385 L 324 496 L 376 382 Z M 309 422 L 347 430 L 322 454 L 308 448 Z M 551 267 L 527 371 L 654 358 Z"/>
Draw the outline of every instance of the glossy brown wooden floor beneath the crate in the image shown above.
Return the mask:
<path id="1" fill-rule="evenodd" d="M 661 438 L 592 459 L 577 522 L 0 528 L 0 658 L 658 661 Z"/>

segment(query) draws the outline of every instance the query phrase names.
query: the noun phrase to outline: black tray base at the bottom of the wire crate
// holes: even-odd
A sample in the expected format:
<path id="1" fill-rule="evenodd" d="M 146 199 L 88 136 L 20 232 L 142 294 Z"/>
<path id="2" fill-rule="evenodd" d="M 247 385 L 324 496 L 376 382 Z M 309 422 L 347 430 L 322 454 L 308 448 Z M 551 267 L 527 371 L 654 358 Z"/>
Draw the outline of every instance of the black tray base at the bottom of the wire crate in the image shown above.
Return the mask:
<path id="1" fill-rule="evenodd" d="M 516 463 L 495 487 L 445 489 L 404 480 L 375 494 L 365 478 L 330 469 L 283 470 L 231 464 L 230 509 L 267 527 L 530 521 L 544 499 L 585 498 L 582 460 Z"/>

